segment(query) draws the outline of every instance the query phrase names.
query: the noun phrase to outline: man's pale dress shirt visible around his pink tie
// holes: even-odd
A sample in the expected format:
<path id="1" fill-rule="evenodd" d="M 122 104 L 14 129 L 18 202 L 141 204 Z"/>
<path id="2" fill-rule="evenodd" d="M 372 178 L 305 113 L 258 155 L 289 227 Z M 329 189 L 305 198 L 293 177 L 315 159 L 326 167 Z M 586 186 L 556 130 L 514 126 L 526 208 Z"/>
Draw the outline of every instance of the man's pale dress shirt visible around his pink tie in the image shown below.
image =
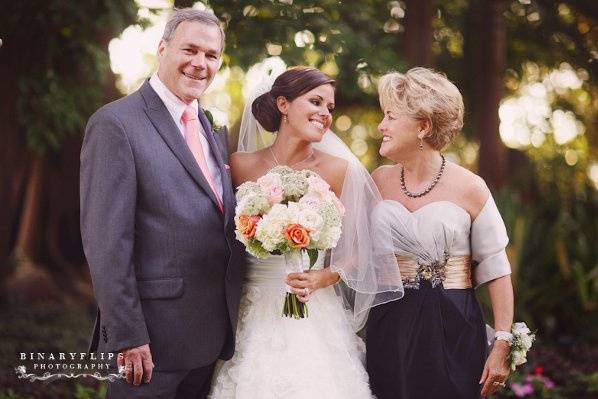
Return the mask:
<path id="1" fill-rule="evenodd" d="M 162 83 L 162 81 L 158 77 L 157 73 L 154 73 L 150 78 L 150 86 L 152 86 L 154 91 L 158 94 L 158 97 L 160 97 L 160 99 L 166 106 L 166 109 L 168 109 L 168 112 L 170 112 L 172 119 L 174 119 L 174 123 L 177 125 L 179 131 L 183 135 L 183 139 L 185 139 L 185 125 L 183 124 L 181 117 L 183 116 L 183 112 L 185 111 L 185 108 L 187 108 L 188 104 L 185 104 L 183 101 L 181 101 L 180 98 L 175 96 L 174 93 L 168 90 L 168 88 L 164 85 L 164 83 Z M 191 105 L 196 110 L 196 112 L 199 109 L 199 104 L 197 100 L 193 100 L 193 102 L 189 105 Z M 212 175 L 212 180 L 214 181 L 214 185 L 216 186 L 216 191 L 218 192 L 218 195 L 220 195 L 220 198 L 222 198 L 222 176 L 220 175 L 220 169 L 218 168 L 216 159 L 212 154 L 212 151 L 210 151 L 210 143 L 208 142 L 208 139 L 206 139 L 205 137 L 206 132 L 204 131 L 201 122 L 199 123 L 199 130 L 199 140 L 201 141 L 203 154 L 206 158 L 206 163 L 208 164 L 208 169 L 210 170 L 210 174 Z"/>

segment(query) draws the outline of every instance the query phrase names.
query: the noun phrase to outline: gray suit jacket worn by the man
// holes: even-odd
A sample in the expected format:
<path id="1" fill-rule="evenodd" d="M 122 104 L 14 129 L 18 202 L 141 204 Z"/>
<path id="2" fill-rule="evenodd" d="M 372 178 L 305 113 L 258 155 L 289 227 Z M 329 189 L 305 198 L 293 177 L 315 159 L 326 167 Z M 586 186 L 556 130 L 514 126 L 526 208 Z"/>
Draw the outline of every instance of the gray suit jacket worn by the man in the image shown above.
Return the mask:
<path id="1" fill-rule="evenodd" d="M 227 134 L 199 111 L 225 212 L 162 100 L 145 82 L 100 108 L 81 150 L 81 235 L 98 316 L 91 350 L 149 343 L 156 370 L 234 351 L 244 249 L 234 235 Z"/>

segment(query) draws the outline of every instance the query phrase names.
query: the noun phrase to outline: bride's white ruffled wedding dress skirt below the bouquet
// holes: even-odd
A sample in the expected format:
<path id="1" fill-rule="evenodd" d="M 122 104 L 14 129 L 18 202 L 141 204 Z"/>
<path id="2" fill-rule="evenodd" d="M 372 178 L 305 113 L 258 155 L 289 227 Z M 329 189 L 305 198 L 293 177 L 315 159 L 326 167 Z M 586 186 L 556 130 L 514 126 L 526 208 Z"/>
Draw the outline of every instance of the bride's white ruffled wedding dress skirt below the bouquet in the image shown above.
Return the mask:
<path id="1" fill-rule="evenodd" d="M 371 398 L 364 343 L 353 332 L 334 288 L 311 294 L 309 317 L 286 318 L 285 277 L 283 256 L 250 257 L 236 352 L 216 371 L 210 397 Z"/>

